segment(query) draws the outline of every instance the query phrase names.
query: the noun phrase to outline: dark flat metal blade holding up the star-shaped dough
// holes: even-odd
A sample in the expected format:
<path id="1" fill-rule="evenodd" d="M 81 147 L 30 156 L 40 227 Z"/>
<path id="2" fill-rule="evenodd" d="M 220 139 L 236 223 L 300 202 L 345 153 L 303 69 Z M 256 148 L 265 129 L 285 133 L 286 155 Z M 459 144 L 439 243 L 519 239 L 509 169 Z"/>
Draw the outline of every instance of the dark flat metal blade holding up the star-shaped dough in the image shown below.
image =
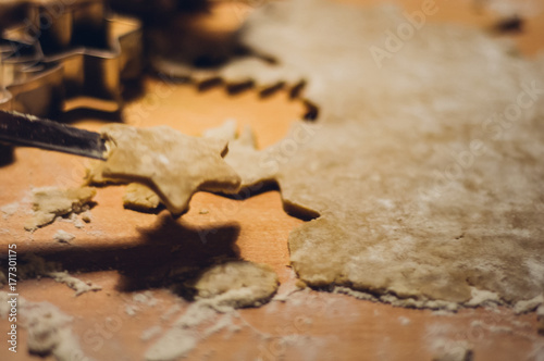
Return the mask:
<path id="1" fill-rule="evenodd" d="M 0 141 L 106 160 L 100 134 L 17 112 L 0 111 Z"/>

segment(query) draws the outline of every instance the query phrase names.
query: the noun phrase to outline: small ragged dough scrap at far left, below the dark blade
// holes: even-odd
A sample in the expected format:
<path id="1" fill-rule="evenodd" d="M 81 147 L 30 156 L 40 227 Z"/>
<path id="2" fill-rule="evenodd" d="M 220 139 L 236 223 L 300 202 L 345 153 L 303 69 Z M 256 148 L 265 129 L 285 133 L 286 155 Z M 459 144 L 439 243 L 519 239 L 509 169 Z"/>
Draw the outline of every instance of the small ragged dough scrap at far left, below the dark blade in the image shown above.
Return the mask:
<path id="1" fill-rule="evenodd" d="M 87 211 L 89 208 L 88 203 L 95 195 L 96 189 L 91 187 L 35 189 L 33 201 L 34 215 L 25 223 L 25 229 L 32 232 L 52 223 L 57 216 L 71 212 L 81 213 Z"/>

